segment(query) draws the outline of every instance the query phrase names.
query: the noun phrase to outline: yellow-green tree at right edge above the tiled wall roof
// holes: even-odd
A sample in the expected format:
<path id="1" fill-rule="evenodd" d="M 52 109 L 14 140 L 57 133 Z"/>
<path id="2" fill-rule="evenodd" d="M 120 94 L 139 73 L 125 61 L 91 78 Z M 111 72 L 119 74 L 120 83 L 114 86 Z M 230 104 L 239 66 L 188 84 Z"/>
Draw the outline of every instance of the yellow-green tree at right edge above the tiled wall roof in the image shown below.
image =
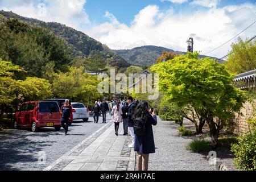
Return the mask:
<path id="1" fill-rule="evenodd" d="M 232 44 L 232 50 L 225 65 L 234 74 L 256 69 L 256 39 L 248 42 L 248 39 L 243 41 L 238 38 L 238 42 Z"/>

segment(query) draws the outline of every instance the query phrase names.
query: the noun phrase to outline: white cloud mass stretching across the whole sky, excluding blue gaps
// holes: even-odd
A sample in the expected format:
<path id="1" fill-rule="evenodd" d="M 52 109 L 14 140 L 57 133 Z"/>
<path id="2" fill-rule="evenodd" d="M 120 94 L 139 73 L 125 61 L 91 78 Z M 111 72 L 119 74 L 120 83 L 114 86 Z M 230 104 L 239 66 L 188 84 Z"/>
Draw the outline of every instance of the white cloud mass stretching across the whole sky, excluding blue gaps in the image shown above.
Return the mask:
<path id="1" fill-rule="evenodd" d="M 188 6 L 204 6 L 210 9 L 191 14 L 174 14 L 175 6 L 161 11 L 156 5 L 148 5 L 134 16 L 130 25 L 120 23 L 109 11 L 105 12 L 108 22 L 94 25 L 90 23 L 88 14 L 84 10 L 86 0 L 43 0 L 46 5 L 45 16 L 40 16 L 38 7 L 40 2 L 42 1 L 0 0 L 0 9 L 11 10 L 46 22 L 66 24 L 84 31 L 113 49 L 154 45 L 187 51 L 186 40 L 193 36 L 195 50 L 205 53 L 220 46 L 253 23 L 256 14 L 255 3 L 217 8 L 216 5 L 220 0 L 194 0 Z M 256 24 L 243 32 L 242 38 L 254 36 L 255 30 Z M 209 56 L 226 55 L 230 44 L 209 53 Z"/>

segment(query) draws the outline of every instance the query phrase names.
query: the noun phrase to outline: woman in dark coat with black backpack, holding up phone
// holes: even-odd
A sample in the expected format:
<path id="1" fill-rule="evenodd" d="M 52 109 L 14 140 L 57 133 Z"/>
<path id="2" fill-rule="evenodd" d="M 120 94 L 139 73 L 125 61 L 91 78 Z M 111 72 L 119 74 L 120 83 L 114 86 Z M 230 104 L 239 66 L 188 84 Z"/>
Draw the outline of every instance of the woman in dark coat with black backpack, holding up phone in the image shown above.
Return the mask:
<path id="1" fill-rule="evenodd" d="M 134 151 L 137 152 L 137 170 L 147 171 L 149 154 L 155 153 L 155 142 L 152 125 L 157 124 L 155 111 L 147 101 L 141 101 L 134 114 Z"/>

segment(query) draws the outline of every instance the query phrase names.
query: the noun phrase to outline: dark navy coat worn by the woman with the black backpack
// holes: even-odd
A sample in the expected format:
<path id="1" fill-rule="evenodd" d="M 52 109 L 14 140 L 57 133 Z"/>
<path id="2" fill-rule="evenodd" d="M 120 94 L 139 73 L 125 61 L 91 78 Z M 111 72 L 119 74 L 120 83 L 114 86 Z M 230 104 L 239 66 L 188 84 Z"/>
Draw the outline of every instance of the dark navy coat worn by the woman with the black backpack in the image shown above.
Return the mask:
<path id="1" fill-rule="evenodd" d="M 155 153 L 155 142 L 154 142 L 152 125 L 155 126 L 156 124 L 157 124 L 156 115 L 154 115 L 154 117 L 149 115 L 146 121 L 146 135 L 144 136 L 135 135 L 134 151 L 141 152 L 142 154 Z"/>

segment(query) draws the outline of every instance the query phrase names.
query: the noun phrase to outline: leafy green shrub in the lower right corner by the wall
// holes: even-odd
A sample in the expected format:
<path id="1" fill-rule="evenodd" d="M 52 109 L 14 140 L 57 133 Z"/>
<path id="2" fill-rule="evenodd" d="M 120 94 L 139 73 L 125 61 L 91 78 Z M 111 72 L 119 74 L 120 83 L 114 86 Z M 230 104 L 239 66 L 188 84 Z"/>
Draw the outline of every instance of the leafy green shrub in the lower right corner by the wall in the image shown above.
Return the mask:
<path id="1" fill-rule="evenodd" d="M 238 137 L 238 144 L 232 145 L 234 164 L 237 168 L 256 171 L 256 129 Z"/>

